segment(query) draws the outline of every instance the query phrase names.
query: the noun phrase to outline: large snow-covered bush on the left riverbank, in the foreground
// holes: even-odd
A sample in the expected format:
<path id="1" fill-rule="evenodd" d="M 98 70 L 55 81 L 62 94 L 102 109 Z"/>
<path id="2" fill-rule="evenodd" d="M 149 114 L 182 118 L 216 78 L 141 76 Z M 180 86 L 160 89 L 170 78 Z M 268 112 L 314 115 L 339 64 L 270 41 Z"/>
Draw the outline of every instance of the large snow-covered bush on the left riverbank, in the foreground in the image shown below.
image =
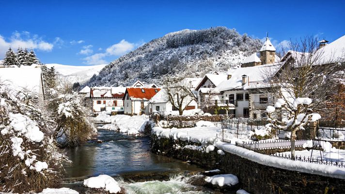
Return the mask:
<path id="1" fill-rule="evenodd" d="M 0 84 L 0 192 L 41 191 L 60 179 L 62 162 L 36 100 Z"/>

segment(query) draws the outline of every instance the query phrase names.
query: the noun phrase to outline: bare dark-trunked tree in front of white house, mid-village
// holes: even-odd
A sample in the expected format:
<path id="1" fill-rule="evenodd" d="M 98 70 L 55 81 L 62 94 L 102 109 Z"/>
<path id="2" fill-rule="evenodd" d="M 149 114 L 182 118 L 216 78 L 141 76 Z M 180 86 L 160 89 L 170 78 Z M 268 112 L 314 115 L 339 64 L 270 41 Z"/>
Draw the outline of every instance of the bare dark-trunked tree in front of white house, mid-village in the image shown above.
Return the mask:
<path id="1" fill-rule="evenodd" d="M 196 100 L 191 88 L 191 83 L 186 79 L 164 88 L 165 96 L 180 115 L 183 114 L 190 102 Z"/>

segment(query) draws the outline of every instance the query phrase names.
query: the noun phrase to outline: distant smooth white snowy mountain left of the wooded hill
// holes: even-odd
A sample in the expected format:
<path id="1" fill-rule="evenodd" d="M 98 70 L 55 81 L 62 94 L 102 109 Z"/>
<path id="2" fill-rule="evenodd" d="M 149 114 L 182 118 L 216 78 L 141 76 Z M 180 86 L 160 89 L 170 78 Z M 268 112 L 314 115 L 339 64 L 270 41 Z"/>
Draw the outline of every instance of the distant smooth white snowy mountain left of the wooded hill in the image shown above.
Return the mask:
<path id="1" fill-rule="evenodd" d="M 54 66 L 60 77 L 70 83 L 83 83 L 88 81 L 94 74 L 98 75 L 99 71 L 106 66 L 92 65 L 92 66 L 73 66 L 61 64 L 46 64 L 48 68 Z"/>

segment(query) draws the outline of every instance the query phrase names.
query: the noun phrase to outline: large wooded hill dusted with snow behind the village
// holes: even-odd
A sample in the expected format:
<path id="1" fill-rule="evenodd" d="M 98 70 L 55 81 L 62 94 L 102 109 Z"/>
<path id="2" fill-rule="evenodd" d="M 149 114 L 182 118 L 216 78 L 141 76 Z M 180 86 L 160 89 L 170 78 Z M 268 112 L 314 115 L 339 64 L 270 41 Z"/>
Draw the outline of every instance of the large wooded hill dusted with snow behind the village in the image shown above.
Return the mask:
<path id="1" fill-rule="evenodd" d="M 259 39 L 226 27 L 172 32 L 111 62 L 86 84 L 118 86 L 141 80 L 164 85 L 178 77 L 227 70 L 261 45 Z"/>

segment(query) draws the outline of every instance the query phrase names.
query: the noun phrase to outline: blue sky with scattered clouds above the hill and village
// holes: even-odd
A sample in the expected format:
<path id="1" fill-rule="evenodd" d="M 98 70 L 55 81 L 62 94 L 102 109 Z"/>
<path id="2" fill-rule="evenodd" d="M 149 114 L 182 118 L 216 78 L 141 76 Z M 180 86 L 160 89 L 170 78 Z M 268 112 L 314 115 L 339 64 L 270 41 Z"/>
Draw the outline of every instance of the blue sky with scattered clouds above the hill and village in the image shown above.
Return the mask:
<path id="1" fill-rule="evenodd" d="M 109 63 L 169 32 L 216 26 L 273 44 L 305 35 L 345 35 L 345 0 L 0 0 L 0 59 L 33 48 L 43 63 Z"/>

